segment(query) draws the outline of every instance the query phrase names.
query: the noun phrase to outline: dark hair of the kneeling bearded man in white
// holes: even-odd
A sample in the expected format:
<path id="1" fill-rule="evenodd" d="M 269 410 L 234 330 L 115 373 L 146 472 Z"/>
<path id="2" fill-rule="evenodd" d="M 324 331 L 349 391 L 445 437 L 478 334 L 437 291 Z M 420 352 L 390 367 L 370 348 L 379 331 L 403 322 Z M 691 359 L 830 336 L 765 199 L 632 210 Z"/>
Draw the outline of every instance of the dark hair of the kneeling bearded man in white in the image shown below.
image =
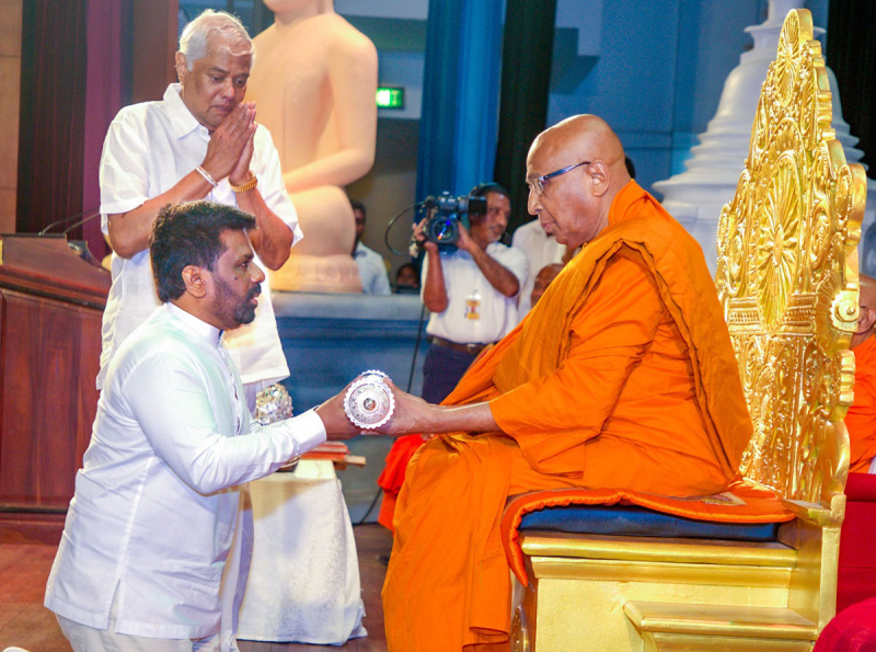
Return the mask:
<path id="1" fill-rule="evenodd" d="M 178 299 L 185 291 L 183 268 L 195 265 L 212 272 L 222 254 L 222 231 L 251 231 L 255 218 L 233 206 L 215 202 L 168 204 L 149 236 L 149 258 L 162 302 Z"/>

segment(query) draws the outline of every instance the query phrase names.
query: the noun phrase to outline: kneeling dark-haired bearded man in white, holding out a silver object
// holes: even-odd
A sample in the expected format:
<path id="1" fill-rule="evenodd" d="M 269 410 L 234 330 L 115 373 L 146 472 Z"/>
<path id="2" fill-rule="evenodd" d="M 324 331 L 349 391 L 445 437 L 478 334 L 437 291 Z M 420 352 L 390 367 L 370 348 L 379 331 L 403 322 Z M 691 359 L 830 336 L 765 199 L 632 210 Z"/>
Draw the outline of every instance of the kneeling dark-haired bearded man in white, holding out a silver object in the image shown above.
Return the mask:
<path id="1" fill-rule="evenodd" d="M 163 305 L 110 364 L 46 588 L 76 652 L 219 650 L 237 485 L 326 433 L 351 435 L 342 394 L 269 426 L 251 420 L 222 333 L 255 316 L 255 227 L 211 202 L 168 206 L 154 222 Z"/>

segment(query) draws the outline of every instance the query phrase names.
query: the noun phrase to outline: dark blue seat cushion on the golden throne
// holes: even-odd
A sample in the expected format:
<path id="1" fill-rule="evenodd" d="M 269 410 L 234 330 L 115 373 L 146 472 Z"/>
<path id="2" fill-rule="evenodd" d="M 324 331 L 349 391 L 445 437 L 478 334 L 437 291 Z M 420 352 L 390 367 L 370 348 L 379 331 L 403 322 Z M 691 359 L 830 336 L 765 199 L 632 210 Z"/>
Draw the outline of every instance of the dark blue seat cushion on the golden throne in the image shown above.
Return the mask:
<path id="1" fill-rule="evenodd" d="M 587 535 L 774 541 L 777 523 L 715 523 L 672 516 L 634 505 L 574 505 L 530 512 L 518 528 Z"/>

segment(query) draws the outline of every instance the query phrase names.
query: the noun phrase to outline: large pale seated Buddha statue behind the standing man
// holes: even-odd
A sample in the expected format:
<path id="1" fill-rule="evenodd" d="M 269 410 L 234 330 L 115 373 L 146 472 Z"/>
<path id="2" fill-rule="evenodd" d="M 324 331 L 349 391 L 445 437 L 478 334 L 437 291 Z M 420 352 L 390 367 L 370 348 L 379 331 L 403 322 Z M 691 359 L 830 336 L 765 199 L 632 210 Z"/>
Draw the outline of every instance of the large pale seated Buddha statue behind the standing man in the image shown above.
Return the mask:
<path id="1" fill-rule="evenodd" d="M 361 291 L 344 186 L 374 161 L 377 49 L 333 0 L 265 0 L 246 99 L 270 130 L 304 239 L 272 274 L 275 289 Z"/>

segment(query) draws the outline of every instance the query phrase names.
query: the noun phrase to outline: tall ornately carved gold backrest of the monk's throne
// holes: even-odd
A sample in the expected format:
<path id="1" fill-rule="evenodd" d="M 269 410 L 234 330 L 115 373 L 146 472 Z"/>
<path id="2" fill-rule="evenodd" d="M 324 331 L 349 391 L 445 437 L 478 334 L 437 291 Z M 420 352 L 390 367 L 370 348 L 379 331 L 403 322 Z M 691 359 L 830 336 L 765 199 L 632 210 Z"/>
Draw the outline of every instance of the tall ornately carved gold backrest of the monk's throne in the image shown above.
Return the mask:
<path id="1" fill-rule="evenodd" d="M 754 424 L 740 471 L 791 500 L 842 493 L 866 178 L 831 127 L 811 14 L 785 19 L 736 196 L 718 227 L 715 283 Z"/>

